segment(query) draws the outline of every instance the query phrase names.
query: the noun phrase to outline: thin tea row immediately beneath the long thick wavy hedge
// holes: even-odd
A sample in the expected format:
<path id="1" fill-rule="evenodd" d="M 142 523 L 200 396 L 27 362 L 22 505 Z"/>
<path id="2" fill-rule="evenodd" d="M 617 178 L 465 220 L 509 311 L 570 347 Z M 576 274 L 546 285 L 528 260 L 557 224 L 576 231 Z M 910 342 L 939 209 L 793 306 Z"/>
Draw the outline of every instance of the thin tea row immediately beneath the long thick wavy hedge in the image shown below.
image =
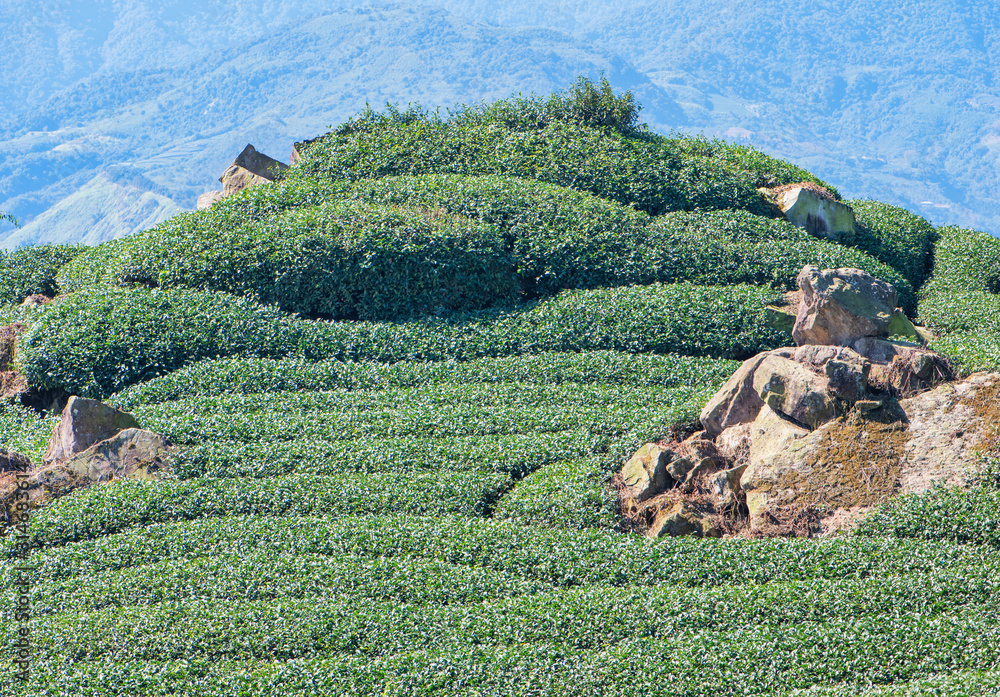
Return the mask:
<path id="1" fill-rule="evenodd" d="M 206 360 L 154 378 L 111 400 L 121 409 L 218 394 L 371 390 L 451 383 L 563 383 L 648 387 L 721 384 L 739 364 L 715 358 L 622 351 L 539 353 L 464 362 L 312 362 L 301 358 Z"/>

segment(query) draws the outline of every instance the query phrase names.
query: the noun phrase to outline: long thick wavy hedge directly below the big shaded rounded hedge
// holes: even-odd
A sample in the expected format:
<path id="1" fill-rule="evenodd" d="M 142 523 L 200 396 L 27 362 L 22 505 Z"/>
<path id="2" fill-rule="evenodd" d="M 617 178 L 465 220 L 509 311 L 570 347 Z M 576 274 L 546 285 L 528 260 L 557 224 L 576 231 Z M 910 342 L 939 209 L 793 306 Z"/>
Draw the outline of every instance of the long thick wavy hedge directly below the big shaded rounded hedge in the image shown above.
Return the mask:
<path id="1" fill-rule="evenodd" d="M 309 322 L 223 293 L 74 293 L 20 342 L 32 385 L 106 396 L 201 358 L 469 360 L 547 351 L 745 358 L 787 340 L 764 313 L 772 292 L 687 284 L 569 291 L 517 310 L 408 323 Z"/>

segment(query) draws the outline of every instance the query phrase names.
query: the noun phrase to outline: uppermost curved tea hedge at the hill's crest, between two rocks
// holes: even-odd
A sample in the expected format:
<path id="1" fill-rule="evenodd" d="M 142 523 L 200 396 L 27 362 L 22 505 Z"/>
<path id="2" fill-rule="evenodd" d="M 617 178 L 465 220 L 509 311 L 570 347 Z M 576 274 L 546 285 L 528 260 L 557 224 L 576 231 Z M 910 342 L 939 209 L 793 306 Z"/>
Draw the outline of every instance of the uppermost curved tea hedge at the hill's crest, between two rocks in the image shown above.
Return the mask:
<path id="1" fill-rule="evenodd" d="M 358 122 L 312 141 L 291 179 L 399 174 L 499 174 L 588 191 L 652 215 L 694 208 L 771 207 L 755 177 L 724 162 L 682 156 L 668 139 L 629 138 L 582 124 L 537 130 L 430 118 Z"/>

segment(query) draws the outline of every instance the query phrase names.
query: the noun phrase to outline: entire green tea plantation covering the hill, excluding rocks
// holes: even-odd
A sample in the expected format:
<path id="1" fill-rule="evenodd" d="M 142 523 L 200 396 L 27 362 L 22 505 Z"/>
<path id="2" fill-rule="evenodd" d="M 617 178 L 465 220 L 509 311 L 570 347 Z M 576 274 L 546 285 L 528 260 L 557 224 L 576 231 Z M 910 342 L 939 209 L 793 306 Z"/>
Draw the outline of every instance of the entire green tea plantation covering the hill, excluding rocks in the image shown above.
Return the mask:
<path id="1" fill-rule="evenodd" d="M 892 282 L 961 371 L 1000 369 L 1000 241 L 875 201 L 851 245 L 814 238 L 757 188 L 828 185 L 637 114 L 585 82 L 366 112 L 280 182 L 0 259 L 29 384 L 180 451 L 33 514 L 34 657 L 3 694 L 1000 693 L 988 457 L 824 540 L 649 540 L 606 486 L 790 343 L 765 305 L 807 263 Z M 39 462 L 56 419 L 8 400 L 0 445 Z"/>

